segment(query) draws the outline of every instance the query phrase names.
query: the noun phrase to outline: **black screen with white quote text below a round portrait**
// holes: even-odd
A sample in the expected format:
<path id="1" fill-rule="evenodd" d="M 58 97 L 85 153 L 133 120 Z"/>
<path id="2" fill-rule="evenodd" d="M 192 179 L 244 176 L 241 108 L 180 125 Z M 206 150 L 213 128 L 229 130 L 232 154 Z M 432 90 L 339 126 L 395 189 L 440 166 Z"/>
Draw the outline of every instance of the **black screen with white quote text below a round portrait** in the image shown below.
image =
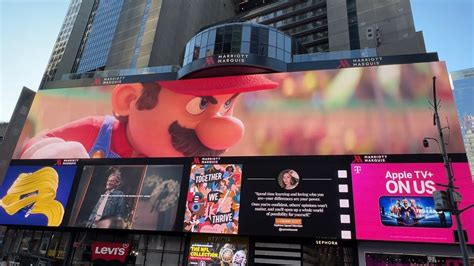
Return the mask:
<path id="1" fill-rule="evenodd" d="M 244 164 L 239 234 L 353 239 L 347 161 L 266 157 Z"/>

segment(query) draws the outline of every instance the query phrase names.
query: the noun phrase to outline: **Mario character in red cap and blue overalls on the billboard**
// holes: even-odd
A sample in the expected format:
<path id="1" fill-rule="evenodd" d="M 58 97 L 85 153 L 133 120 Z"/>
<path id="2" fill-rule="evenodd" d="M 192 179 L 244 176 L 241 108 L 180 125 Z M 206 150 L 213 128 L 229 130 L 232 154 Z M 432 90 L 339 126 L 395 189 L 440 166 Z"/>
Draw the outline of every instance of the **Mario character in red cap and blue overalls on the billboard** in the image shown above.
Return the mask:
<path id="1" fill-rule="evenodd" d="M 259 75 L 117 85 L 114 116 L 86 117 L 32 139 L 21 158 L 217 156 L 244 134 L 243 92 L 273 89 Z"/>

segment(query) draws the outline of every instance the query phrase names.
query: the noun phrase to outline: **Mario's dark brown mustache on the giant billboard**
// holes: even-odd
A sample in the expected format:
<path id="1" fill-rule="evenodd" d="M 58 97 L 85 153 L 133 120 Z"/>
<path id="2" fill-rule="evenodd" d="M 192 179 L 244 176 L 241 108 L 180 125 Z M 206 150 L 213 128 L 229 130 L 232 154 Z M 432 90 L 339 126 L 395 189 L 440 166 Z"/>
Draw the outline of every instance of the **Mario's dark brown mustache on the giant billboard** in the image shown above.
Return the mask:
<path id="1" fill-rule="evenodd" d="M 206 147 L 199 140 L 194 129 L 185 128 L 174 121 L 168 128 L 171 135 L 171 144 L 173 148 L 181 152 L 185 157 L 212 157 L 219 156 L 225 150 L 213 150 Z"/>

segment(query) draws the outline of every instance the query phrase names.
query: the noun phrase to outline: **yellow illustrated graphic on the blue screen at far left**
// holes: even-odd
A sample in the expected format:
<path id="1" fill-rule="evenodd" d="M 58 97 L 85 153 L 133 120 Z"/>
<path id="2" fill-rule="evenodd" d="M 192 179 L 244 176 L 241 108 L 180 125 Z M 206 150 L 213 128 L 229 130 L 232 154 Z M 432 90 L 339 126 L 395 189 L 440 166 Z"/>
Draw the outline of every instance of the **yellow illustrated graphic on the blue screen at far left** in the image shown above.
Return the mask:
<path id="1" fill-rule="evenodd" d="M 55 200 L 59 176 L 51 167 L 43 167 L 34 173 L 22 173 L 0 199 L 9 215 L 31 206 L 25 217 L 30 214 L 44 214 L 48 218 L 48 226 L 59 226 L 63 220 L 64 207 Z"/>

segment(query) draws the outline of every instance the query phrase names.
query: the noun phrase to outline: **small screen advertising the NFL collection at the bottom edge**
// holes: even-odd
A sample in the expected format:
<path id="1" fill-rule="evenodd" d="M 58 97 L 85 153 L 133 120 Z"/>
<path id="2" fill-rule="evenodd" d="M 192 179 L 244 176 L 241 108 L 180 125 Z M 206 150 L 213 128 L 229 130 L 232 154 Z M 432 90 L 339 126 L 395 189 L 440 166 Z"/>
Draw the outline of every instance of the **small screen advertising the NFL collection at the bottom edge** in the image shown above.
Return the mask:
<path id="1" fill-rule="evenodd" d="M 189 246 L 188 265 L 249 265 L 248 242 L 245 237 L 193 235 Z"/>

